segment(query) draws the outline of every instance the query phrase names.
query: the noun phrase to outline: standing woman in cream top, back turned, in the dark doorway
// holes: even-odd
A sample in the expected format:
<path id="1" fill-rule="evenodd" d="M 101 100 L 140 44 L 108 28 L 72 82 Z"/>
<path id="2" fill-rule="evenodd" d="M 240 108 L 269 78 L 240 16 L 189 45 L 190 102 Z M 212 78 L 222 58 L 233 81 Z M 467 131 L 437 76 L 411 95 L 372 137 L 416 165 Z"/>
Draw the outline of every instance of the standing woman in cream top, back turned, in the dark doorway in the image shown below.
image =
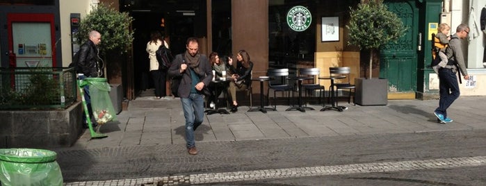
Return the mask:
<path id="1" fill-rule="evenodd" d="M 155 56 L 155 51 L 159 49 L 159 47 L 164 44 L 165 47 L 169 48 L 167 42 L 165 42 L 162 38 L 162 35 L 159 31 L 152 31 L 150 33 L 150 41 L 147 42 L 147 53 L 149 53 L 149 60 L 150 60 L 150 74 L 154 79 L 154 87 L 155 87 L 155 99 L 163 98 L 166 90 L 165 80 L 167 77 L 167 69 L 159 69 L 159 62 Z"/>

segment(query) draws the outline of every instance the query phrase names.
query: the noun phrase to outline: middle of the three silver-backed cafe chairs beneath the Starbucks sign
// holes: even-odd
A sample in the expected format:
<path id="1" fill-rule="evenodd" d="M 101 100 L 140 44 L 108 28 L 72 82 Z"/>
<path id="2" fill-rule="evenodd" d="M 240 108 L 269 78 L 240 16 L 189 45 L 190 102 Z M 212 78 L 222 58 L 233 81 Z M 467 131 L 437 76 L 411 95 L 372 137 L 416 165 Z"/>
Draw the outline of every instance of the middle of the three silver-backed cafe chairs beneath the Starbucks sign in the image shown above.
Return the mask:
<path id="1" fill-rule="evenodd" d="M 306 97 L 319 90 L 319 104 L 321 104 L 321 98 L 324 98 L 325 88 L 323 85 L 319 84 L 316 79 L 319 77 L 320 71 L 318 68 L 302 68 L 298 69 L 299 76 L 311 76 L 313 79 L 308 81 L 302 81 L 302 88 L 305 90 Z M 306 103 L 307 104 L 307 103 Z"/>

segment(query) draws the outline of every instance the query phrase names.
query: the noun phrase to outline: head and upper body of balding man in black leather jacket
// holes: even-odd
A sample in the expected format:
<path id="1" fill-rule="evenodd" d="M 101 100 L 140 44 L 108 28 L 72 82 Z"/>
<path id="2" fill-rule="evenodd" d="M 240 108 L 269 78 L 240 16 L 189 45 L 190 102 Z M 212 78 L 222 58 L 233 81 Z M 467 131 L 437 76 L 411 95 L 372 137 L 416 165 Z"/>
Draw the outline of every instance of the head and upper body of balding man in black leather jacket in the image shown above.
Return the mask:
<path id="1" fill-rule="evenodd" d="M 86 77 L 97 78 L 102 76 L 102 67 L 99 67 L 98 47 L 102 42 L 102 35 L 97 31 L 91 31 L 89 40 L 79 48 L 79 58 L 76 71 Z"/>

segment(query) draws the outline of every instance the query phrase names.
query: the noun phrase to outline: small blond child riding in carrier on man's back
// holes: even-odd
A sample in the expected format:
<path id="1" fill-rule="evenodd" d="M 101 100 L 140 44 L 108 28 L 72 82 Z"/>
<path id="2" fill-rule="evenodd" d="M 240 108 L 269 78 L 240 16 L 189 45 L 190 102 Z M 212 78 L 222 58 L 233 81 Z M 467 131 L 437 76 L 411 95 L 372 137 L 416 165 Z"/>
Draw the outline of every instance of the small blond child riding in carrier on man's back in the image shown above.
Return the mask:
<path id="1" fill-rule="evenodd" d="M 449 40 L 451 40 L 451 36 L 449 35 L 449 31 L 451 31 L 451 26 L 448 24 L 439 24 L 439 28 L 437 28 L 437 35 L 435 35 L 434 40 L 434 47 L 437 51 L 439 51 L 439 64 L 432 66 L 434 69 L 435 74 L 439 74 L 440 67 L 446 67 L 448 62 L 448 57 L 446 54 L 446 48 L 448 47 Z M 437 56 L 435 56 L 437 58 Z"/>

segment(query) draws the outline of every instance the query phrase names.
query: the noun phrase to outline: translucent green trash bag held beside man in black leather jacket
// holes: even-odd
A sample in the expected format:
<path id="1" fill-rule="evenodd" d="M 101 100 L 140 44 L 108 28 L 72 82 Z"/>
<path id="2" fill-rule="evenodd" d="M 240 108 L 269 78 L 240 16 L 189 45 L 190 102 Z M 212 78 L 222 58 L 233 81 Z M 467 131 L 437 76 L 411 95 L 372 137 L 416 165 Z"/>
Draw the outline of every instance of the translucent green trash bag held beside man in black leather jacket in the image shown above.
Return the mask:
<path id="1" fill-rule="evenodd" d="M 90 86 L 90 98 L 92 115 L 95 116 L 97 124 L 106 124 L 108 121 L 117 121 L 115 108 L 111 103 L 110 85 L 106 78 L 86 78 L 83 83 Z"/>

